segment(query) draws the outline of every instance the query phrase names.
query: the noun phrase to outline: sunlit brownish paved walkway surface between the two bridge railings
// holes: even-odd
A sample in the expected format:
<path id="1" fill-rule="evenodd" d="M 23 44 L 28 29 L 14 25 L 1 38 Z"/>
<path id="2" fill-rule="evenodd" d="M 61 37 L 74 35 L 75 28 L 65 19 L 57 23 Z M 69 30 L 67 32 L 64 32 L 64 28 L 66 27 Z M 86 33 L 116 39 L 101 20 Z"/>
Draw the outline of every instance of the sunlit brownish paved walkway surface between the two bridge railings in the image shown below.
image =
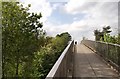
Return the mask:
<path id="1" fill-rule="evenodd" d="M 100 56 L 83 44 L 76 46 L 74 61 L 74 77 L 85 79 L 119 79 L 117 73 Z"/>

